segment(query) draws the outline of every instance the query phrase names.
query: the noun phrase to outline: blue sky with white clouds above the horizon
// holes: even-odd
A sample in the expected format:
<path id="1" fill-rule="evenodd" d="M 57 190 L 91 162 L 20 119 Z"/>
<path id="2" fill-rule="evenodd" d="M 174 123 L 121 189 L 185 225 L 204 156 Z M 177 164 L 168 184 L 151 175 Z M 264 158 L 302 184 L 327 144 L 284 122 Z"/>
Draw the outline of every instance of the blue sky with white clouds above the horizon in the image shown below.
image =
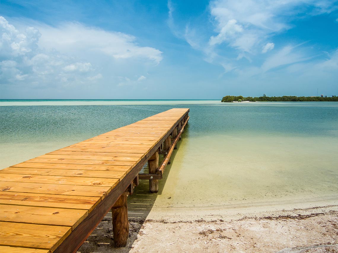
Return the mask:
<path id="1" fill-rule="evenodd" d="M 6 1 L 2 99 L 338 95 L 338 1 Z"/>

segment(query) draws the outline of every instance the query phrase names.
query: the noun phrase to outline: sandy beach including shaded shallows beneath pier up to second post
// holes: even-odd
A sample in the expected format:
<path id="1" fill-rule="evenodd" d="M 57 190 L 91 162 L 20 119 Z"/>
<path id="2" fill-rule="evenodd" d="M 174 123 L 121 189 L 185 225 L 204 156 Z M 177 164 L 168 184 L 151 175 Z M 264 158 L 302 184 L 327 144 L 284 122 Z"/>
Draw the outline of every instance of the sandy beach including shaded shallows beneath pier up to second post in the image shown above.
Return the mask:
<path id="1" fill-rule="evenodd" d="M 336 198 L 159 207 L 146 184 L 128 197 L 127 246 L 113 248 L 108 212 L 78 252 L 338 252 Z"/>

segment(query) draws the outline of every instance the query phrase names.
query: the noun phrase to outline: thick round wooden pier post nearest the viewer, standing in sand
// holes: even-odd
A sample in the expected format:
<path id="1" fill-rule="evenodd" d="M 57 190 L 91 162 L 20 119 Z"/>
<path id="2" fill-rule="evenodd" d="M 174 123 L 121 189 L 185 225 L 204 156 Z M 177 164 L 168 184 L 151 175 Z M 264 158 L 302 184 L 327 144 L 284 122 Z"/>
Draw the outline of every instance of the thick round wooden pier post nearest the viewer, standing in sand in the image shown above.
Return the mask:
<path id="1" fill-rule="evenodd" d="M 114 247 L 125 247 L 129 236 L 127 194 L 123 193 L 112 207 Z"/>

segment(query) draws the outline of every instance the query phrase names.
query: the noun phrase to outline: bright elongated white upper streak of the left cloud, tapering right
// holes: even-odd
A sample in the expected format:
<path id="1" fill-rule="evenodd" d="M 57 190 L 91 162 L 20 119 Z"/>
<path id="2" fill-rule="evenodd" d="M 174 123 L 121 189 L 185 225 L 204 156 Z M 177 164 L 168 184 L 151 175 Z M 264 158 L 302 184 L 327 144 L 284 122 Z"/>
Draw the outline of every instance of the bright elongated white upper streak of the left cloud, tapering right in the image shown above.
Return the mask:
<path id="1" fill-rule="evenodd" d="M 83 54 L 83 50 L 103 53 L 115 59 L 140 59 L 158 65 L 162 52 L 152 47 L 141 47 L 136 37 L 122 32 L 105 31 L 79 23 L 64 23 L 57 27 L 42 25 L 39 45 L 61 52 Z"/>

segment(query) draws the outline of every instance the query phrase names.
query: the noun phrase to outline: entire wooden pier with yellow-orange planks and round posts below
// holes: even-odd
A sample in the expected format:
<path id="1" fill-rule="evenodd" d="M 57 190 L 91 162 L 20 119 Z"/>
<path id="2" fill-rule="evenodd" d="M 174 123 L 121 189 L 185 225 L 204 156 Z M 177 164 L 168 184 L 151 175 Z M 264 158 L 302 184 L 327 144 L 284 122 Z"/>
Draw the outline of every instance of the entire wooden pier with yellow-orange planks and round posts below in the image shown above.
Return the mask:
<path id="1" fill-rule="evenodd" d="M 76 252 L 110 209 L 114 245 L 125 246 L 127 195 L 139 178 L 158 192 L 188 113 L 171 109 L 1 170 L 0 252 Z"/>

